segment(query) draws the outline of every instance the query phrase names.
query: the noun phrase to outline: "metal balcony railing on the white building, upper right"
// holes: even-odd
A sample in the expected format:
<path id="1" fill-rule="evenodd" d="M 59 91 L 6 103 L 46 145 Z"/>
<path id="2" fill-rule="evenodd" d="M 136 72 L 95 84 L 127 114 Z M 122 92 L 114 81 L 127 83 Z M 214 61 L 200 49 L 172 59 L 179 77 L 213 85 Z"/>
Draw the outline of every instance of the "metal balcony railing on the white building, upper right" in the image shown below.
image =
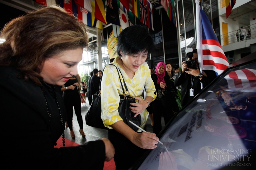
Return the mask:
<path id="1" fill-rule="evenodd" d="M 256 24 L 248 25 L 235 31 L 221 35 L 223 45 L 228 45 L 243 40 L 256 38 Z"/>

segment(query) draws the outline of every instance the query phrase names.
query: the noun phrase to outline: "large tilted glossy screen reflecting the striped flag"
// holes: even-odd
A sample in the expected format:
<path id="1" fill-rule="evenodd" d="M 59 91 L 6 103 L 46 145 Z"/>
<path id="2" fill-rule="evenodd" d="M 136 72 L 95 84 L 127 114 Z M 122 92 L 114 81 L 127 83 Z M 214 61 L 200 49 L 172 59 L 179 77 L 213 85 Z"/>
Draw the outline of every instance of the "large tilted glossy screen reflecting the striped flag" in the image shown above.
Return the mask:
<path id="1" fill-rule="evenodd" d="M 139 170 L 252 166 L 255 108 L 256 64 L 230 69 L 178 114 Z"/>

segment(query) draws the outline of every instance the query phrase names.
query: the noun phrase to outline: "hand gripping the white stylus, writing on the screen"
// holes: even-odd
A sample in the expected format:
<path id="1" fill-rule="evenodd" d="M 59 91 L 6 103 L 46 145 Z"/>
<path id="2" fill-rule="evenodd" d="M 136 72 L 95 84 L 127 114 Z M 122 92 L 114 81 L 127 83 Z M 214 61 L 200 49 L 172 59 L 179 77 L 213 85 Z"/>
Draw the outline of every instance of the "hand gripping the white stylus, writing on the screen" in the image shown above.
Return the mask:
<path id="1" fill-rule="evenodd" d="M 156 137 L 155 133 L 135 133 L 133 136 L 133 143 L 143 149 L 155 149 L 159 138 Z"/>

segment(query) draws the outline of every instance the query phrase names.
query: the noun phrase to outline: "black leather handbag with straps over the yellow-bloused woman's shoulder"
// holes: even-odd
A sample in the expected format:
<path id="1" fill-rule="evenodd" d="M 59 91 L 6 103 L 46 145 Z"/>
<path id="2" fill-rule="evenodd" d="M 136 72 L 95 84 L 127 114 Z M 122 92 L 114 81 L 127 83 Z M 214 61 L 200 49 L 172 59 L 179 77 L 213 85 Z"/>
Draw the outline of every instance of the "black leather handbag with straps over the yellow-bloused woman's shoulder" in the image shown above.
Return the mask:
<path id="1" fill-rule="evenodd" d="M 110 64 L 110 65 L 113 65 L 113 64 Z M 113 65 L 113 66 L 115 66 L 115 65 Z M 103 69 L 103 72 L 104 72 L 104 69 Z M 130 103 L 135 103 L 135 98 L 130 97 L 130 93 L 129 93 L 126 83 L 124 82 L 124 79 L 123 79 L 123 84 L 124 84 L 124 87 L 127 92 L 127 94 L 125 94 L 123 84 L 122 84 L 122 81 L 120 78 L 121 72 L 118 67 L 116 67 L 116 70 L 117 70 L 117 73 L 119 76 L 119 80 L 121 82 L 122 90 L 124 92 L 123 95 L 119 95 L 120 101 L 119 101 L 119 107 L 117 110 L 118 110 L 119 116 L 123 119 L 123 122 L 136 132 L 138 130 L 138 128 L 135 127 L 133 124 L 131 124 L 129 122 L 129 120 L 132 121 L 133 123 L 135 123 L 136 125 L 140 126 L 141 125 L 141 116 L 139 114 L 136 117 L 134 117 L 135 113 L 133 113 L 130 110 L 130 106 L 132 106 L 132 105 L 130 105 Z M 100 79 L 99 92 L 97 92 L 98 94 L 96 93 L 95 95 L 93 95 L 92 105 L 90 105 L 90 108 L 85 115 L 85 121 L 88 126 L 102 128 L 102 129 L 108 129 L 107 127 L 105 127 L 103 125 L 102 119 L 100 117 L 101 116 L 101 96 L 100 95 L 101 95 L 101 80 L 103 77 L 103 72 L 102 72 L 101 79 Z M 119 74 L 119 72 L 120 72 L 120 74 Z M 121 74 L 121 76 L 123 78 L 122 74 Z"/>

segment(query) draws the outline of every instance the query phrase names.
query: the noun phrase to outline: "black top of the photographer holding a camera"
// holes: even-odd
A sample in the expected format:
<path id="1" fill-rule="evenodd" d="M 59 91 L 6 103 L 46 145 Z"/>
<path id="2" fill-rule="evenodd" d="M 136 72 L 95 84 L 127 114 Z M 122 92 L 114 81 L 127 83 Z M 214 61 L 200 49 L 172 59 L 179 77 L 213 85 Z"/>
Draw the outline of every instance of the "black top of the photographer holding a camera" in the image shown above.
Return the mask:
<path id="1" fill-rule="evenodd" d="M 198 77 L 190 75 L 186 72 L 179 72 L 178 76 L 174 81 L 174 86 L 182 85 L 181 89 L 181 106 L 185 106 L 188 102 L 190 102 L 198 93 L 201 92 L 201 82 L 203 83 L 203 87 L 205 88 L 208 84 L 210 84 L 217 76 L 215 71 L 204 70 L 207 77 L 203 75 L 202 80 Z M 192 89 L 194 90 L 194 96 L 189 96 L 189 90 L 191 89 L 191 84 L 193 82 Z"/>

